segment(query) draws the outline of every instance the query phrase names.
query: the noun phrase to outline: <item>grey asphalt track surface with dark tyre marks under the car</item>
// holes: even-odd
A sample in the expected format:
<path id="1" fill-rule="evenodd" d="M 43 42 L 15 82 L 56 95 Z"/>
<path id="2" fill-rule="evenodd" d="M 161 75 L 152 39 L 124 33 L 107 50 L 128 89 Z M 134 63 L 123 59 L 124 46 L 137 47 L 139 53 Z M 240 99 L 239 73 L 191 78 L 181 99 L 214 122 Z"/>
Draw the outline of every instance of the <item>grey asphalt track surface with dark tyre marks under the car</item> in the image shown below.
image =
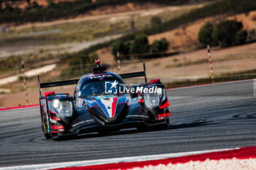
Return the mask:
<path id="1" fill-rule="evenodd" d="M 167 90 L 167 130 L 47 140 L 39 108 L 0 111 L 0 167 L 256 145 L 253 81 Z"/>

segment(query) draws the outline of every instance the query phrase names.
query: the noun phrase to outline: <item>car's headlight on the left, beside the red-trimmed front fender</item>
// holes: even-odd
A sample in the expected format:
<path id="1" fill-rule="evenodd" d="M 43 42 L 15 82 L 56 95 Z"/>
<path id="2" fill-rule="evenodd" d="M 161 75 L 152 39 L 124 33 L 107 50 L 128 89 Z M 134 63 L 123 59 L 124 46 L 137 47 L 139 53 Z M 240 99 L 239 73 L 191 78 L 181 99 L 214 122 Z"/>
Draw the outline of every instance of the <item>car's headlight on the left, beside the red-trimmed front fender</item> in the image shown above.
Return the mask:
<path id="1" fill-rule="evenodd" d="M 56 109 L 60 117 L 71 117 L 73 108 L 72 101 L 53 100 L 53 108 Z"/>

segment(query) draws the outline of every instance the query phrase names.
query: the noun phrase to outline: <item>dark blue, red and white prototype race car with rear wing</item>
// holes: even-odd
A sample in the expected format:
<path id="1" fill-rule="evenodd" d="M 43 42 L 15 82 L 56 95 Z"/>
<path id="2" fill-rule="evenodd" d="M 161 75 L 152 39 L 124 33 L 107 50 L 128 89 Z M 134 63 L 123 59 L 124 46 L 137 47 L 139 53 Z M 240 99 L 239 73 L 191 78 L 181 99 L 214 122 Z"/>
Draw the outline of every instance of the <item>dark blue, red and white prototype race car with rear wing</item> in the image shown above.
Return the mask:
<path id="1" fill-rule="evenodd" d="M 105 133 L 123 128 L 167 128 L 170 105 L 165 85 L 159 80 L 146 80 L 145 63 L 143 72 L 116 74 L 106 72 L 105 66 L 92 68 L 77 80 L 39 82 L 39 107 L 42 131 L 46 139 L 91 132 Z M 124 78 L 145 77 L 146 83 L 129 87 Z M 74 96 L 68 93 L 46 92 L 41 88 L 77 84 Z"/>

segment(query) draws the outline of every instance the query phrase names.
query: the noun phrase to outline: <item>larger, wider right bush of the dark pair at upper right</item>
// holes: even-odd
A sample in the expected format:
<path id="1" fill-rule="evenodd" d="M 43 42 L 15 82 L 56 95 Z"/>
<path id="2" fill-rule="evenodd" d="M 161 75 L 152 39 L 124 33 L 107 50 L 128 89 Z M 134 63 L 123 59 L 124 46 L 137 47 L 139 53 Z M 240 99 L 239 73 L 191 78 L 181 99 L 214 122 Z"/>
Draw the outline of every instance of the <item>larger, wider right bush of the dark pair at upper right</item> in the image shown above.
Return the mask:
<path id="1" fill-rule="evenodd" d="M 245 43 L 247 34 L 241 31 L 243 24 L 236 20 L 223 20 L 214 28 L 212 37 L 220 47 L 241 45 Z"/>

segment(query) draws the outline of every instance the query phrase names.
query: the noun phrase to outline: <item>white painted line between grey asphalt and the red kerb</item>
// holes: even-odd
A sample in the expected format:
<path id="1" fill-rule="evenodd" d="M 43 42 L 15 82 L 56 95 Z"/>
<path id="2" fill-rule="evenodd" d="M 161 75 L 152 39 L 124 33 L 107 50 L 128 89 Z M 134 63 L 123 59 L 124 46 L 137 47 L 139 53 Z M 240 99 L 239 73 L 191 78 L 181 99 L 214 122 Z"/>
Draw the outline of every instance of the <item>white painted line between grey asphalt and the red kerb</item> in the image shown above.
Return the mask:
<path id="1" fill-rule="evenodd" d="M 71 161 L 71 162 L 61 162 L 61 163 L 43 163 L 43 164 L 34 164 L 26 166 L 7 166 L 1 167 L 0 170 L 13 170 L 13 169 L 59 169 L 65 167 L 75 167 L 75 166 L 93 166 L 93 165 L 102 165 L 108 163 L 121 163 L 121 162 L 138 162 L 138 161 L 153 161 L 160 160 L 165 158 L 178 158 L 186 155 L 197 155 L 208 152 L 220 152 L 225 150 L 238 150 L 240 147 L 230 148 L 230 149 L 221 149 L 221 150 L 202 150 L 202 151 L 193 151 L 193 152 L 178 152 L 178 153 L 167 153 L 159 155 L 142 155 L 142 156 L 132 156 L 132 157 L 123 157 L 123 158 L 110 158 L 110 159 L 98 159 L 90 161 Z"/>

